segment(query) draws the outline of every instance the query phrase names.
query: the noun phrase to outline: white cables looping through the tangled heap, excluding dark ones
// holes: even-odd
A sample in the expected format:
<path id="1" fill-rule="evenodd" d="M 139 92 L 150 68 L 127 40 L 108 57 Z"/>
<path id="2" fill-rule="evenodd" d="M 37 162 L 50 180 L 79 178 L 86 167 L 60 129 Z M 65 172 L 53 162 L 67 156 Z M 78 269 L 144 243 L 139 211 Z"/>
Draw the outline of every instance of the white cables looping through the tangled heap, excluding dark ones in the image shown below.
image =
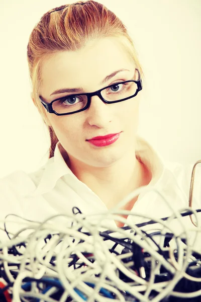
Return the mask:
<path id="1" fill-rule="evenodd" d="M 149 189 L 150 190 L 150 189 Z M 155 190 L 156 193 L 157 190 Z M 136 194 L 136 193 L 135 193 Z M 164 196 L 159 193 L 161 201 L 165 200 Z M 125 201 L 124 201 L 125 202 Z M 165 200 L 168 204 L 168 201 Z M 75 292 L 75 288 L 80 290 L 83 295 L 92 302 L 97 300 L 97 302 L 106 302 L 119 300 L 121 302 L 125 301 L 125 296 L 121 294 L 120 290 L 125 290 L 130 293 L 133 297 L 147 302 L 149 301 L 149 295 L 152 290 L 158 292 L 155 298 L 152 299 L 153 302 L 160 301 L 163 297 L 171 294 L 172 289 L 182 277 L 186 277 L 191 281 L 199 281 L 199 278 L 194 278 L 185 273 L 186 267 L 189 264 L 189 259 L 192 259 L 191 254 L 193 246 L 189 244 L 189 230 L 182 221 L 182 216 L 178 211 L 175 211 L 171 205 L 168 205 L 172 215 L 166 221 L 157 219 L 154 217 L 145 217 L 142 214 L 133 213 L 127 210 L 115 209 L 111 210 L 108 213 L 102 213 L 98 215 L 86 215 L 77 214 L 77 215 L 54 215 L 42 223 L 30 223 L 27 224 L 27 228 L 30 229 L 29 235 L 27 237 L 22 236 L 23 228 L 14 234 L 14 238 L 10 242 L 6 242 L 6 245 L 3 247 L 3 254 L 0 253 L 0 259 L 5 262 L 5 272 L 7 276 L 13 278 L 8 263 L 20 263 L 21 268 L 19 274 L 14 280 L 13 295 L 15 297 L 15 302 L 20 301 L 20 296 L 24 299 L 25 297 L 33 297 L 46 299 L 47 302 L 54 299 L 50 298 L 51 290 L 45 294 L 35 292 L 34 288 L 30 292 L 22 291 L 21 284 L 25 276 L 34 277 L 41 279 L 43 277 L 57 277 L 58 280 L 62 282 L 64 286 L 64 292 L 61 297 L 61 302 L 64 302 L 68 295 L 76 301 L 83 302 L 81 296 Z M 183 210 L 183 209 L 182 209 Z M 190 209 L 192 210 L 192 209 Z M 139 228 L 136 226 L 132 219 L 127 221 L 124 217 L 119 216 L 120 214 L 128 214 L 135 216 L 142 216 L 145 219 L 152 219 L 160 226 L 159 230 L 161 235 L 159 236 L 159 247 L 161 250 L 169 251 L 169 257 L 172 261 L 170 264 L 169 260 L 163 258 L 162 255 L 158 253 L 157 246 L 152 242 L 152 240 L 146 236 Z M 195 218 L 197 219 L 197 214 L 193 211 Z M 55 218 L 62 216 L 64 219 L 62 224 L 55 222 Z M 176 218 L 174 218 L 176 217 Z M 92 218 L 90 220 L 90 218 Z M 96 223 L 95 223 L 96 218 Z M 151 275 L 149 280 L 145 280 L 140 276 L 137 276 L 133 271 L 133 262 L 125 264 L 123 259 L 131 257 L 132 253 L 115 255 L 109 251 L 110 244 L 114 245 L 115 243 L 111 240 L 104 241 L 104 238 L 100 236 L 99 230 L 106 227 L 105 221 L 109 220 L 118 220 L 120 222 L 126 223 L 130 229 L 135 231 L 134 233 L 129 233 L 130 230 L 125 231 L 124 229 L 119 229 L 115 225 L 111 225 L 111 237 L 114 238 L 127 238 L 132 242 L 139 245 L 142 249 L 150 255 L 151 265 Z M 175 219 L 178 221 L 179 225 L 182 228 L 180 234 L 176 235 L 173 228 L 171 227 L 171 221 Z M 134 220 L 134 219 L 133 219 Z M 69 225 L 72 224 L 72 228 Z M 65 225 L 66 223 L 66 225 Z M 199 224 L 199 221 L 198 221 Z M 89 235 L 79 232 L 78 229 L 82 228 L 84 232 L 90 233 Z M 149 231 L 155 230 L 155 225 L 149 226 Z M 177 260 L 173 254 L 173 246 L 169 248 L 163 248 L 165 234 L 169 232 L 173 234 L 172 243 L 177 246 Z M 200 232 L 200 229 L 196 229 L 195 236 L 193 237 L 193 244 L 196 240 L 196 236 Z M 45 244 L 44 239 L 51 234 L 51 238 Z M 56 235 L 58 234 L 58 235 Z M 149 233 L 148 233 L 149 234 Z M 18 237 L 17 237 L 18 236 Z M 186 239 L 186 245 L 183 244 L 180 238 Z M 75 239 L 74 243 L 72 242 L 72 237 Z M 8 254 L 8 248 L 13 245 L 20 244 L 22 241 L 25 241 L 27 247 L 22 256 L 16 256 Z M 91 253 L 92 256 L 88 257 L 84 253 Z M 81 263 L 84 263 L 84 267 L 77 268 L 73 270 L 73 267 L 68 267 L 68 264 L 72 261 L 72 255 L 76 255 L 76 266 Z M 56 257 L 55 264 L 52 266 L 50 263 L 52 257 Z M 92 263 L 91 260 L 94 259 Z M 148 260 L 148 257 L 147 257 Z M 173 278 L 170 281 L 154 283 L 155 274 L 160 269 L 161 265 L 169 272 L 173 274 Z M 132 283 L 126 283 L 119 279 L 118 271 L 122 271 L 125 275 L 133 280 Z M 95 275 L 98 277 L 94 277 Z M 196 279 L 196 280 L 195 280 Z M 42 282 L 42 281 L 41 281 Z M 94 288 L 86 284 L 90 282 L 94 284 Z M 102 296 L 99 291 L 100 289 L 108 289 L 110 292 L 116 294 L 115 299 L 108 298 L 107 296 Z M 54 286 L 51 287 L 54 289 Z M 56 288 L 54 289 L 56 290 Z M 141 292 L 145 292 L 142 294 Z M 191 296 L 197 296 L 197 293 L 188 293 Z M 183 293 L 173 292 L 173 295 L 182 296 Z M 194 294 L 194 295 L 193 295 Z M 91 298 L 90 298 L 91 297 Z M 46 301 L 45 300 L 45 301 Z"/>

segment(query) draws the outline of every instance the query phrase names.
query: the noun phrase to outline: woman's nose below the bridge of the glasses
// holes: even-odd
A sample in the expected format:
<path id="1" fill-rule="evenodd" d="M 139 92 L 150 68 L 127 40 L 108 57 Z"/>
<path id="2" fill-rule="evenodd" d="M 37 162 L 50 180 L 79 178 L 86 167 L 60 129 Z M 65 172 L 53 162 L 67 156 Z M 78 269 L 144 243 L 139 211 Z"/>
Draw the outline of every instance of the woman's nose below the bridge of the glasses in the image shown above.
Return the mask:
<path id="1" fill-rule="evenodd" d="M 112 121 L 112 105 L 105 104 L 98 96 L 92 96 L 90 106 L 86 110 L 87 123 L 90 126 L 106 128 L 108 123 Z"/>

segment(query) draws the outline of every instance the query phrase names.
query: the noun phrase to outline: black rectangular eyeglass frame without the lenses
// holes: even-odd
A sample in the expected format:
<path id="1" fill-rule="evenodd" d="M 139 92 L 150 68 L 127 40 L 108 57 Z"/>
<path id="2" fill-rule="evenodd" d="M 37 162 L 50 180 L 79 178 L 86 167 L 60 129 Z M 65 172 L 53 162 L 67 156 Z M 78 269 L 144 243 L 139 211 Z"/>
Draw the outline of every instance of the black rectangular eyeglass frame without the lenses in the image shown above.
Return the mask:
<path id="1" fill-rule="evenodd" d="M 138 75 L 139 75 L 139 78 L 140 78 L 140 72 L 139 70 L 136 68 L 136 70 L 138 71 Z M 137 90 L 135 92 L 134 95 L 128 97 L 128 98 L 125 98 L 125 99 L 122 99 L 122 100 L 118 100 L 118 101 L 107 101 L 105 100 L 102 95 L 101 95 L 101 92 L 107 88 L 110 88 L 110 87 L 113 87 L 115 85 L 119 85 L 119 84 L 124 84 L 124 83 L 128 83 L 128 82 L 134 82 L 137 84 Z M 79 93 L 79 94 L 72 94 L 72 95 L 68 95 L 68 96 L 65 96 L 65 97 L 61 97 L 61 98 L 58 98 L 56 100 L 53 100 L 51 103 L 47 103 L 46 101 L 43 101 L 41 99 L 41 97 L 39 97 L 42 105 L 45 107 L 45 109 L 47 110 L 47 112 L 49 113 L 54 113 L 56 115 L 69 115 L 69 114 L 74 114 L 74 113 L 77 113 L 77 112 L 80 112 L 80 111 L 84 111 L 86 110 L 87 108 L 89 108 L 90 106 L 90 103 L 91 103 L 91 97 L 93 96 L 98 96 L 100 100 L 102 100 L 105 104 L 114 104 L 114 103 L 119 103 L 119 102 L 123 102 L 123 101 L 126 101 L 128 99 L 131 99 L 131 98 L 134 98 L 135 96 L 137 96 L 138 92 L 142 90 L 142 80 L 141 78 L 137 81 L 134 81 L 134 80 L 129 80 L 129 81 L 124 81 L 124 82 L 118 82 L 118 83 L 114 83 L 113 85 L 109 85 L 107 87 L 104 87 L 102 89 L 99 89 L 95 92 L 89 92 L 89 93 Z M 56 111 L 53 110 L 52 108 L 52 104 L 58 100 L 62 100 L 62 99 L 66 99 L 67 97 L 73 97 L 73 96 L 80 96 L 80 95 L 85 95 L 87 96 L 87 103 L 86 103 L 86 106 L 84 106 L 84 108 L 80 109 L 80 110 L 77 110 L 77 111 L 73 111 L 73 112 L 68 112 L 68 113 L 57 113 Z"/>

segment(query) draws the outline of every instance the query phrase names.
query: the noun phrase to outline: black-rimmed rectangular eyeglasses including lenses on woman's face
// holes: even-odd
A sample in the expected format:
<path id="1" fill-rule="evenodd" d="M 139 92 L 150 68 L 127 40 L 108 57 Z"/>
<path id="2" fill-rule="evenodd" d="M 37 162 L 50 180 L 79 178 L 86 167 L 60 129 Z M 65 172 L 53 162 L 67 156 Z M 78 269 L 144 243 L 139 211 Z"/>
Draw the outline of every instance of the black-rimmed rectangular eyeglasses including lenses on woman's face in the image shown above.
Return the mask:
<path id="1" fill-rule="evenodd" d="M 91 93 L 80 93 L 68 95 L 47 103 L 40 96 L 39 99 L 47 112 L 56 115 L 74 114 L 84 111 L 89 108 L 91 97 L 98 96 L 106 104 L 114 104 L 126 101 L 137 96 L 138 92 L 142 90 L 142 80 L 140 79 L 140 72 L 138 72 L 137 81 L 129 80 L 124 82 L 114 83 L 100 90 Z"/>

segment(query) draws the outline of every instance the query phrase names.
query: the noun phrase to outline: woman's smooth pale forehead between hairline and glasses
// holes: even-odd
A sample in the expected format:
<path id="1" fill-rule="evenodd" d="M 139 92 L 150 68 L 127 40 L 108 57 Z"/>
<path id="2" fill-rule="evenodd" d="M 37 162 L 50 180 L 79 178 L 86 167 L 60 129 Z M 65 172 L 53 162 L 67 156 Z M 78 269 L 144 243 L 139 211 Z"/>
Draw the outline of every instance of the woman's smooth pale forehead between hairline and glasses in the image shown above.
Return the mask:
<path id="1" fill-rule="evenodd" d="M 130 69 L 133 75 L 133 60 L 118 38 L 93 40 L 77 51 L 60 51 L 45 59 L 40 93 L 47 97 L 60 88 L 99 89 L 102 88 L 99 83 L 107 75 L 122 68 Z M 121 74 L 124 72 L 128 74 L 128 71 Z"/>

